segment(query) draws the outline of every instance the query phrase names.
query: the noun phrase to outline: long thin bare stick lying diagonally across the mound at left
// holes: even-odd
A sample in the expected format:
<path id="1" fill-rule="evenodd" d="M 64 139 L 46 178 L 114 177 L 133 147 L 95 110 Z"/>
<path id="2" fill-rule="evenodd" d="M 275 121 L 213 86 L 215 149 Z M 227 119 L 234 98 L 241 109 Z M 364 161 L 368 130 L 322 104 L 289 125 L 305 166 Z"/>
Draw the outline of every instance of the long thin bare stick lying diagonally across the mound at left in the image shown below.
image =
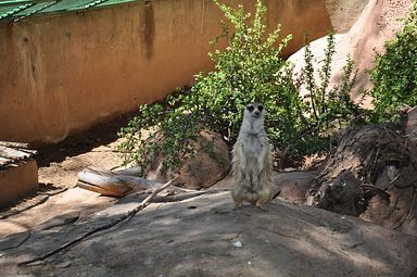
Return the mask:
<path id="1" fill-rule="evenodd" d="M 41 255 L 41 256 L 38 256 L 38 257 L 35 257 L 35 259 L 31 259 L 31 260 L 28 260 L 28 261 L 25 261 L 25 262 L 22 262 L 22 263 L 18 263 L 17 265 L 18 266 L 23 266 L 23 265 L 28 265 L 28 264 L 31 264 L 31 263 L 35 263 L 35 262 L 39 262 L 39 261 L 43 261 L 47 257 L 50 257 L 54 254 L 56 254 L 58 252 L 61 252 L 62 250 L 64 249 L 67 249 L 78 242 L 80 242 L 81 240 L 84 240 L 85 238 L 87 237 L 90 237 L 91 235 L 98 232 L 98 231 L 101 231 L 101 230 L 105 230 L 105 229 L 109 229 L 109 228 L 112 228 L 113 226 L 115 226 L 116 224 L 125 221 L 126 218 L 130 218 L 132 217 L 135 214 L 137 214 L 140 210 L 143 210 L 144 207 L 147 207 L 152 199 L 157 194 L 160 193 L 161 191 L 163 191 L 164 189 L 166 189 L 167 187 L 169 187 L 178 177 L 175 177 L 174 179 L 169 180 L 168 182 L 164 184 L 162 187 L 160 188 L 156 188 L 155 190 L 152 191 L 151 194 L 149 194 L 142 202 L 140 202 L 139 205 L 137 205 L 134 210 L 127 212 L 126 214 L 124 214 L 123 216 L 118 217 L 117 219 L 115 219 L 114 222 L 111 222 L 109 224 L 105 224 L 103 226 L 99 226 L 81 236 L 79 236 L 78 238 L 74 239 L 74 240 L 71 240 L 64 244 L 62 244 L 61 247 L 59 248 L 55 248 L 49 252 L 47 252 L 46 254 Z"/>

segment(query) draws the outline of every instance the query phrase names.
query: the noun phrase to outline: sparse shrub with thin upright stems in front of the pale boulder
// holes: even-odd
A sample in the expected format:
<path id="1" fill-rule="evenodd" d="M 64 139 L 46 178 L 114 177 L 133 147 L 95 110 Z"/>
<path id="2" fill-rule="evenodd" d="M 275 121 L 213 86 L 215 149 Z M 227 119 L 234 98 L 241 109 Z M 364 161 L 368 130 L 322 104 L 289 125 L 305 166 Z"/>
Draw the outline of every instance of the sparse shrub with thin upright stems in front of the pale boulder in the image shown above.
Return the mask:
<path id="1" fill-rule="evenodd" d="M 357 70 L 354 70 L 354 63 L 349 56 L 342 68 L 341 83 L 330 87 L 331 62 L 336 53 L 332 33 L 327 37 L 327 47 L 324 53 L 324 60 L 317 68 L 317 64 L 313 63 L 314 55 L 309 43 L 305 46 L 305 65 L 299 86 L 306 90 L 303 99 L 308 105 L 308 112 L 303 113 L 304 128 L 298 134 L 299 137 L 295 140 L 296 148 L 302 150 L 300 154 L 312 154 L 327 150 L 334 130 L 350 125 L 363 113 L 359 103 L 354 103 L 351 99 Z"/>

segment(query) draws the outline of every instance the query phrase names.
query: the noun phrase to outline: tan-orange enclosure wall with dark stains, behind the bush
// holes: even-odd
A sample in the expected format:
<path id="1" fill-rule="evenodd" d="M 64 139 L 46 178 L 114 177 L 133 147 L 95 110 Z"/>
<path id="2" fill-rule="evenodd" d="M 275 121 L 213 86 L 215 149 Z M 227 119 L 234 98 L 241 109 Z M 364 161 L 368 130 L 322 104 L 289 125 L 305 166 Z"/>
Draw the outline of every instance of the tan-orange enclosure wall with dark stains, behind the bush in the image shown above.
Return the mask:
<path id="1" fill-rule="evenodd" d="M 286 54 L 330 29 L 325 0 L 265 2 L 294 35 Z M 56 142 L 191 84 L 222 17 L 211 0 L 154 0 L 1 25 L 0 140 Z"/>

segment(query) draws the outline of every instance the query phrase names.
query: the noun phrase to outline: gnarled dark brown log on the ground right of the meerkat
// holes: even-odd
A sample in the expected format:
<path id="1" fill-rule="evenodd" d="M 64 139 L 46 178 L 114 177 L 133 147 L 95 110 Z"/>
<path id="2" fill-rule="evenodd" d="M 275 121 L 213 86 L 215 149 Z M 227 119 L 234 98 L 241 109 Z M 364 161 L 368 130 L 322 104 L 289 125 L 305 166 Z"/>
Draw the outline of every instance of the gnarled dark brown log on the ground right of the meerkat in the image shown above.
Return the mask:
<path id="1" fill-rule="evenodd" d="M 306 203 L 392 229 L 416 226 L 417 147 L 405 135 L 389 124 L 349 129 L 313 180 Z"/>

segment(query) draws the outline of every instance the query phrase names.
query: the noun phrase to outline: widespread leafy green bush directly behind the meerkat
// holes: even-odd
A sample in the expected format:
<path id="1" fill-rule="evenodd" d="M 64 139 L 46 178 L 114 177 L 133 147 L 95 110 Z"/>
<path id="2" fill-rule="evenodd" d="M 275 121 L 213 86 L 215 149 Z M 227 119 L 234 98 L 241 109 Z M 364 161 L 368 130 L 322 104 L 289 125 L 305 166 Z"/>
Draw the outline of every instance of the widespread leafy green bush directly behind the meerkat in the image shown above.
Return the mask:
<path id="1" fill-rule="evenodd" d="M 267 110 L 265 126 L 275 150 L 285 150 L 286 155 L 298 160 L 326 149 L 329 129 L 348 124 L 357 110 L 349 97 L 355 77 L 351 61 L 344 68 L 343 84 L 328 88 L 333 36 L 329 36 L 320 85 L 313 80 L 309 47 L 305 74 L 298 84 L 292 80 L 292 65 L 280 56 L 290 36 L 280 40 L 279 26 L 266 34 L 266 8 L 261 0 L 253 16 L 244 13 L 242 5 L 235 10 L 215 3 L 233 26 L 231 33 L 223 23 L 223 34 L 216 40 L 227 39 L 227 47 L 210 53 L 215 70 L 198 74 L 190 91 L 169 96 L 164 103 L 139 108 L 139 115 L 121 130 L 125 141 L 119 150 L 126 154 L 125 162 L 135 161 L 149 168 L 152 158 L 162 154 L 164 165 L 175 169 L 181 160 L 193 154 L 192 141 L 202 128 L 220 134 L 231 148 L 238 137 L 242 108 L 254 101 Z M 299 93 L 305 84 L 306 99 Z M 153 131 L 146 138 L 143 129 Z"/>

